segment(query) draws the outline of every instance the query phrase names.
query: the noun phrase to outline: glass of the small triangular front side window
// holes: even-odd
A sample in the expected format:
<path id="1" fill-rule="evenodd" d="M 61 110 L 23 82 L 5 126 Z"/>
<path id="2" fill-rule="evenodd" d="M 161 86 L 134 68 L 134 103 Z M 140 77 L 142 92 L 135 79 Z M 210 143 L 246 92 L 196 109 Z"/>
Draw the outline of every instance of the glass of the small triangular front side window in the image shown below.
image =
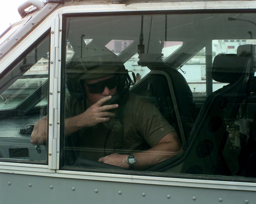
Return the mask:
<path id="1" fill-rule="evenodd" d="M 35 123 L 47 114 L 49 35 L 20 59 L 0 79 L 0 157 L 46 161 L 46 146 L 31 144 L 30 136 Z"/>

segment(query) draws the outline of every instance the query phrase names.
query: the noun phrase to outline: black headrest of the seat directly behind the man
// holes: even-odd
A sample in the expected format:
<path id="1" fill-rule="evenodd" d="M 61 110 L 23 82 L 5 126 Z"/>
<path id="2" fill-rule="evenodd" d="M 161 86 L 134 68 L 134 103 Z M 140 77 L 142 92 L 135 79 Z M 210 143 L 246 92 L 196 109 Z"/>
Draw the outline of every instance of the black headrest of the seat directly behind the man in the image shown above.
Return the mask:
<path id="1" fill-rule="evenodd" d="M 217 82 L 233 84 L 242 76 L 251 57 L 237 54 L 218 54 L 212 64 L 212 78 Z"/>

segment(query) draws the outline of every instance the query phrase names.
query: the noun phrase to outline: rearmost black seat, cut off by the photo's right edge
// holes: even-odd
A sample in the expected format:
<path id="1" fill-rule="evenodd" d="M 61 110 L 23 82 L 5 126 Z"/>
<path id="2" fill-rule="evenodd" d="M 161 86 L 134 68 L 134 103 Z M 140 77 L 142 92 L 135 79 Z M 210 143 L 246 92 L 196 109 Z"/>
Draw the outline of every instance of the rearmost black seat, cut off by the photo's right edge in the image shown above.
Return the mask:
<path id="1" fill-rule="evenodd" d="M 238 156 L 239 171 L 237 175 L 256 177 L 256 76 L 255 73 L 255 45 L 239 46 L 237 53 L 243 56 L 254 56 L 252 60 L 251 77 L 248 80 L 248 97 L 245 98 L 237 113 L 240 128 L 241 150 Z M 253 58 L 252 58 L 253 59 Z"/>

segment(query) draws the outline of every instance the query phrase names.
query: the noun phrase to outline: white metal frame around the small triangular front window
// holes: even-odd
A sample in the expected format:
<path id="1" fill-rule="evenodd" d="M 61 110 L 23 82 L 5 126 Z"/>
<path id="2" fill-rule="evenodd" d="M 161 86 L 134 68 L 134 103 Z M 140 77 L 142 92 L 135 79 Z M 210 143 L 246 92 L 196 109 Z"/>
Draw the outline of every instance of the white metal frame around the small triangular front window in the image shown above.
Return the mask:
<path id="1" fill-rule="evenodd" d="M 56 13 L 55 13 L 56 15 Z M 36 27 L 31 33 L 27 35 L 27 37 L 22 40 L 14 49 L 12 49 L 8 54 L 6 54 L 0 61 L 0 67 L 1 70 L 0 72 L 4 71 L 6 67 L 8 67 L 12 62 L 13 59 L 17 59 L 18 56 L 20 56 L 23 52 L 25 52 L 35 41 L 37 41 L 42 35 L 44 35 L 47 30 L 52 28 L 52 30 L 56 29 L 55 28 L 55 21 L 56 18 L 54 18 L 54 15 L 51 14 L 46 20 L 44 20 L 40 26 Z M 58 24 L 59 25 L 59 24 Z M 51 31 L 52 31 L 51 30 Z M 59 30 L 58 30 L 59 32 Z M 57 32 L 57 33 L 58 33 Z M 59 40 L 58 38 L 53 36 L 53 33 L 51 33 L 50 36 L 50 60 L 55 59 L 55 52 L 52 50 L 55 50 L 52 48 L 52 46 L 55 46 L 56 40 Z M 53 87 L 57 86 L 55 83 L 57 83 L 57 80 L 53 80 L 52 78 L 55 76 L 55 64 L 50 63 L 49 67 L 49 79 L 50 81 L 54 81 L 53 83 L 50 83 L 50 90 L 53 90 Z M 52 91 L 53 93 L 53 91 Z M 56 93 L 50 95 L 52 97 L 49 97 L 49 110 L 52 109 L 51 106 L 53 106 L 54 103 L 56 103 L 54 100 L 57 100 L 57 91 Z M 57 104 L 57 103 L 56 103 Z M 49 111 L 49 113 L 51 113 Z M 57 114 L 56 114 L 57 115 Z M 50 121 L 54 120 L 54 116 L 52 114 L 49 114 L 49 123 Z M 47 173 L 56 173 L 56 160 L 57 160 L 57 155 L 56 155 L 56 148 L 57 148 L 57 140 L 52 140 L 52 135 L 53 135 L 53 127 L 49 126 L 49 150 L 48 152 L 54 152 L 49 155 L 48 157 L 48 165 L 44 164 L 28 164 L 28 163 L 16 163 L 16 162 L 0 162 L 0 172 L 13 172 L 13 173 L 22 173 L 22 174 L 35 174 L 35 175 L 47 175 Z M 25 160 L 26 162 L 26 160 Z M 33 172 L 33 173 L 32 173 Z"/>

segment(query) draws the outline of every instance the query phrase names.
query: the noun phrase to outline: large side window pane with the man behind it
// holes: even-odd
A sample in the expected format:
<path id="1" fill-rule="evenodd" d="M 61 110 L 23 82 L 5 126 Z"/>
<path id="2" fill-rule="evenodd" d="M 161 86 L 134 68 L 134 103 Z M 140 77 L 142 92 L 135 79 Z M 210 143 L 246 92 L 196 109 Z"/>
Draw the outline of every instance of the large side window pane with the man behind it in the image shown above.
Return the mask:
<path id="1" fill-rule="evenodd" d="M 235 17 L 64 17 L 62 166 L 255 176 L 255 15 Z"/>

